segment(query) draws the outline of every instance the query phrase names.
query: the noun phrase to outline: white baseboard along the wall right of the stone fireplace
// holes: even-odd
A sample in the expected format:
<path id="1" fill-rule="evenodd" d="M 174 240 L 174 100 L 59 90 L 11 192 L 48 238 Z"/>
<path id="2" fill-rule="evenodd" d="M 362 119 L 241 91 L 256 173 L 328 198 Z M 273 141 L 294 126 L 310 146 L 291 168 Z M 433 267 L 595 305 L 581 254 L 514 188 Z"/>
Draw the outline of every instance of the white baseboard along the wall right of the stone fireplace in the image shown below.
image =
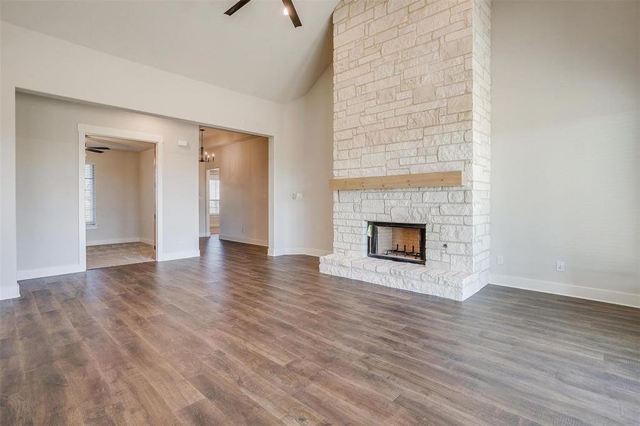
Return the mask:
<path id="1" fill-rule="evenodd" d="M 489 276 L 489 284 L 577 297 L 597 302 L 614 303 L 616 305 L 640 307 L 640 295 L 602 290 L 600 288 L 580 287 L 579 285 L 552 283 L 550 281 L 532 280 L 531 278 L 519 278 L 509 275 L 491 275 Z"/>

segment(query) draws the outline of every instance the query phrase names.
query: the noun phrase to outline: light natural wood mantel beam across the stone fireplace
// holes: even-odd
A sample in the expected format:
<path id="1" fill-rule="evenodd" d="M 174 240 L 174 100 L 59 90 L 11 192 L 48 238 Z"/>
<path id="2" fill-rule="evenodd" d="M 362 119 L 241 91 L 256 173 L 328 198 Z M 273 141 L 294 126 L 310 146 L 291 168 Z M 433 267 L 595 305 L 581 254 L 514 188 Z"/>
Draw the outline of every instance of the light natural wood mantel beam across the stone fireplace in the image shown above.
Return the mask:
<path id="1" fill-rule="evenodd" d="M 379 188 L 462 186 L 462 171 L 421 173 L 418 175 L 372 176 L 369 178 L 336 178 L 329 181 L 329 189 L 374 190 Z"/>

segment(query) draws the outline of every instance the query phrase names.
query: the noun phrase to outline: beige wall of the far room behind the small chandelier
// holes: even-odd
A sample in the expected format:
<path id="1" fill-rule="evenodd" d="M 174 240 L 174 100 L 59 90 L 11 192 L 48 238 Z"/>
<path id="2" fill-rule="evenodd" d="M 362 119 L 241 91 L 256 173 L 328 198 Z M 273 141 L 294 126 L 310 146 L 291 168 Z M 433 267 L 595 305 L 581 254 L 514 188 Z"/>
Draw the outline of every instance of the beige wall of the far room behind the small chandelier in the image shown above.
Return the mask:
<path id="1" fill-rule="evenodd" d="M 206 169 L 219 168 L 219 237 L 268 246 L 269 139 L 256 137 L 207 151 L 215 154 L 215 162 L 200 165 L 200 235 L 207 231 Z"/>

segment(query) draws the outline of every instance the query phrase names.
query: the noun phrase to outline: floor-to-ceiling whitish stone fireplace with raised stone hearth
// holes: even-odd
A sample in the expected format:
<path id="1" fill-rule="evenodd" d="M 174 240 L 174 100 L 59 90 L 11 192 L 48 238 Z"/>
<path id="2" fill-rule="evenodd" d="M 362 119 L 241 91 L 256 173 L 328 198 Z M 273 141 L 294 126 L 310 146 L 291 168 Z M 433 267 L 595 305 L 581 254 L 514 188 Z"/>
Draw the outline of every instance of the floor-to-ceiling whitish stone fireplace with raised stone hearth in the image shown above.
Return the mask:
<path id="1" fill-rule="evenodd" d="M 333 20 L 334 180 L 362 185 L 334 191 L 320 271 L 465 300 L 489 271 L 490 2 L 342 0 Z M 423 247 L 392 233 L 370 256 L 372 223 L 419 224 Z"/>

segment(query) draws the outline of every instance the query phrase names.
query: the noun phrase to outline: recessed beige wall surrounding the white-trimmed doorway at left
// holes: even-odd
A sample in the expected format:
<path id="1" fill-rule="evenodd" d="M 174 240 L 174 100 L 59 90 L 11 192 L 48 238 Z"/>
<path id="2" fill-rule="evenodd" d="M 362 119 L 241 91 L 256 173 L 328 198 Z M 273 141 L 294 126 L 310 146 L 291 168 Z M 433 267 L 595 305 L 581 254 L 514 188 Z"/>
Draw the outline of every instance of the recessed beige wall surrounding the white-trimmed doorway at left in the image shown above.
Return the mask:
<path id="1" fill-rule="evenodd" d="M 17 94 L 18 271 L 23 276 L 40 271 L 52 275 L 52 271 L 72 270 L 80 262 L 78 123 L 163 136 L 164 250 L 158 255 L 197 256 L 197 125 Z M 186 139 L 188 148 L 178 147 L 178 138 Z M 127 219 L 137 222 L 137 210 L 130 213 Z"/>

